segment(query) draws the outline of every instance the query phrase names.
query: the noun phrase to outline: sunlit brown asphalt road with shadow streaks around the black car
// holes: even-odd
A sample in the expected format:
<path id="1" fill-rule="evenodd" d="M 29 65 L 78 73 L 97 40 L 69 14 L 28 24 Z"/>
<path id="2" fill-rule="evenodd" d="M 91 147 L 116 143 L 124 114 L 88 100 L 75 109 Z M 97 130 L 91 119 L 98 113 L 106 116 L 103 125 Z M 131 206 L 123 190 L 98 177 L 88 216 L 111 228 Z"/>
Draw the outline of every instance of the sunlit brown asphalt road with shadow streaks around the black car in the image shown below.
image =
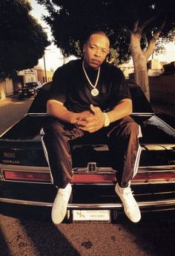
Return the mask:
<path id="1" fill-rule="evenodd" d="M 0 133 L 22 118 L 31 103 L 16 98 L 0 103 Z M 1 256 L 174 256 L 174 241 L 174 214 L 142 214 L 136 224 L 122 216 L 116 224 L 56 227 L 50 208 L 0 204 Z"/>

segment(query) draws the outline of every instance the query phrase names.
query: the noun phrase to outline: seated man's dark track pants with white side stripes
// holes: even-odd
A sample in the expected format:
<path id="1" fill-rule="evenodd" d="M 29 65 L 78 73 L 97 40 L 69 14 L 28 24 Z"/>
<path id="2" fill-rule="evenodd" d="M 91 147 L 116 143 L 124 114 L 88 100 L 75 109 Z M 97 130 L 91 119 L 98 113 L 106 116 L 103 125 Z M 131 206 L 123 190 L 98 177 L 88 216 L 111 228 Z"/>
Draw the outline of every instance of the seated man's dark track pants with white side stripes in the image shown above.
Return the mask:
<path id="1" fill-rule="evenodd" d="M 89 133 L 63 121 L 51 121 L 43 128 L 42 145 L 50 167 L 52 182 L 58 188 L 65 186 L 72 179 L 72 159 L 69 141 L 84 135 L 107 138 L 108 148 L 117 170 L 117 180 L 122 188 L 136 175 L 139 167 L 141 147 L 140 127 L 130 117 L 113 122 L 97 132 Z"/>

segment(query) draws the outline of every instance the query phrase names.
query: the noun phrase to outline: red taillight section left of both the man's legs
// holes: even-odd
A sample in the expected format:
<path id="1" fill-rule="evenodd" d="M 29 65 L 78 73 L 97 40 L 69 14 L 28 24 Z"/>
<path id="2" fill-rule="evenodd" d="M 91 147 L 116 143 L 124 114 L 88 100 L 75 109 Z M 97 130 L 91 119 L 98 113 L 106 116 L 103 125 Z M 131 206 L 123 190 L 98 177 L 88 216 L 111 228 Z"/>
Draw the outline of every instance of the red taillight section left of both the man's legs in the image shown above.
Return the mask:
<path id="1" fill-rule="evenodd" d="M 23 182 L 50 182 L 50 173 L 19 172 L 12 170 L 3 171 L 4 179 Z"/>

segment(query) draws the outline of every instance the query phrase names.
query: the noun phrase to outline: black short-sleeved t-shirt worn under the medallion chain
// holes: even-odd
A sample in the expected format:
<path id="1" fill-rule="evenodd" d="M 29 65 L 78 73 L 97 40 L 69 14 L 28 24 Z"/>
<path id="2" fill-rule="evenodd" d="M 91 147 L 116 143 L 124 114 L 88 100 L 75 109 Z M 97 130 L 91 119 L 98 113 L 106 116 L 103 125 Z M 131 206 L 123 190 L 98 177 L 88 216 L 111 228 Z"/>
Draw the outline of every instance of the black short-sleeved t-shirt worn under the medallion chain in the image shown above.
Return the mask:
<path id="1" fill-rule="evenodd" d="M 94 85 L 98 70 L 86 69 L 90 82 Z M 100 68 L 99 81 L 96 89 L 99 95 L 91 95 L 93 87 L 85 77 L 82 60 L 71 60 L 56 69 L 50 88 L 49 99 L 59 100 L 72 112 L 82 112 L 90 109 L 90 104 L 99 106 L 102 111 L 113 109 L 120 100 L 131 95 L 122 71 L 109 63 L 103 63 Z"/>

